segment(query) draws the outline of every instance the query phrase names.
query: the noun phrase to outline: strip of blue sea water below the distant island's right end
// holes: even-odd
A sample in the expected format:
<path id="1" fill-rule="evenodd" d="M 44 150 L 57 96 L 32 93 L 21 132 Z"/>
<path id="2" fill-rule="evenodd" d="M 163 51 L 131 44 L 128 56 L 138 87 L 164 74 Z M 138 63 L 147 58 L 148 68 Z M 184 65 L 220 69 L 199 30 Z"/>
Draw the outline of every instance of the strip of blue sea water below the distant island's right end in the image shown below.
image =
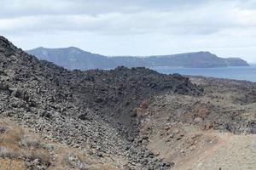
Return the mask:
<path id="1" fill-rule="evenodd" d="M 235 80 L 246 80 L 256 82 L 256 65 L 247 67 L 226 67 L 226 68 L 173 68 L 154 67 L 154 71 L 165 74 L 178 73 L 181 75 L 229 78 Z"/>

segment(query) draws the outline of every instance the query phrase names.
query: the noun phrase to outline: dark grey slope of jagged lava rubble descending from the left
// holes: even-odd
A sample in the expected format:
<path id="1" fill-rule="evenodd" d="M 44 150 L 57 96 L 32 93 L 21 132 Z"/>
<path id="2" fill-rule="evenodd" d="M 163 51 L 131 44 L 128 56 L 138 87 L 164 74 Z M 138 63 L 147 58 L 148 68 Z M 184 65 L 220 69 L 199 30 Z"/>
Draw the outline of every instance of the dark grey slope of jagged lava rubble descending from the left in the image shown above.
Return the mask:
<path id="1" fill-rule="evenodd" d="M 0 61 L 1 116 L 96 159 L 118 160 L 120 169 L 170 168 L 154 159 L 139 136 L 136 111 L 143 100 L 202 91 L 189 78 L 145 68 L 67 71 L 26 54 L 4 37 Z"/>

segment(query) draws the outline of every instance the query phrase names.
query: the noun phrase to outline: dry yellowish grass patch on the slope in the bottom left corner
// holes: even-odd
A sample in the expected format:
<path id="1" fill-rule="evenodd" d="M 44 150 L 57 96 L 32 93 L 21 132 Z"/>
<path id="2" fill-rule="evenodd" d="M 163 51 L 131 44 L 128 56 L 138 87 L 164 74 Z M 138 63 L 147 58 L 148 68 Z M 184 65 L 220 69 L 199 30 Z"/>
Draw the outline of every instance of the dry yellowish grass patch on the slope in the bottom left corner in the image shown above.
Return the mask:
<path id="1" fill-rule="evenodd" d="M 9 120 L 0 120 L 0 127 L 7 127 L 0 133 L 0 170 L 25 170 L 26 160 L 38 159 L 50 170 L 118 170 L 112 163 L 103 163 L 81 150 L 42 139 L 33 131 L 16 126 Z M 51 156 L 50 151 L 55 155 Z M 52 158 L 55 157 L 55 160 Z M 70 157 L 73 157 L 72 159 Z M 75 162 L 75 163 L 74 163 Z M 105 161 L 108 162 L 108 161 Z M 52 166 L 54 165 L 54 166 Z"/>

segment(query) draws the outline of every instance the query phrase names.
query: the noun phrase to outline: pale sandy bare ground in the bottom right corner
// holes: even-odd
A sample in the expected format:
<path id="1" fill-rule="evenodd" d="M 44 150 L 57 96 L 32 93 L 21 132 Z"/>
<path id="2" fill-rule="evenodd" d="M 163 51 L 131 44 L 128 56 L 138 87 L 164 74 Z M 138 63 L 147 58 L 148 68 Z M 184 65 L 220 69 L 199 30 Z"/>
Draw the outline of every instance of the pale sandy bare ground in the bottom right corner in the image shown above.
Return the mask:
<path id="1" fill-rule="evenodd" d="M 177 170 L 256 169 L 256 135 L 217 133 L 221 142 L 204 151 L 198 159 L 183 162 Z"/>

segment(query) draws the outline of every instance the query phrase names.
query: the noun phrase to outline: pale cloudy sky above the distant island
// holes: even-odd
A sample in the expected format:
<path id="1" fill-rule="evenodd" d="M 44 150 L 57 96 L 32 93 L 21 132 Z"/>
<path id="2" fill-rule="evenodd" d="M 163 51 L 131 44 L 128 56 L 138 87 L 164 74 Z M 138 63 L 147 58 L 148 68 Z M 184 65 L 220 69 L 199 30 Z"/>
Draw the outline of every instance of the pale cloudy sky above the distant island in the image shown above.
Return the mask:
<path id="1" fill-rule="evenodd" d="M 210 51 L 256 63 L 256 0 L 1 0 L 0 35 L 23 49 Z"/>

